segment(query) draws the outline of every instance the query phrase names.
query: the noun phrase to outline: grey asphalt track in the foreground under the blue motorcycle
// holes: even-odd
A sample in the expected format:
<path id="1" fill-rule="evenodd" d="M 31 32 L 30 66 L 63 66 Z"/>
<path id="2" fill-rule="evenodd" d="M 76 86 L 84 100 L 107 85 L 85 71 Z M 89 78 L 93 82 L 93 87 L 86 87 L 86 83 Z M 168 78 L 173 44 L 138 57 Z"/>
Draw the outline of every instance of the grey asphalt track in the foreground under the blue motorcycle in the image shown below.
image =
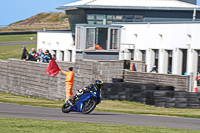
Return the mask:
<path id="1" fill-rule="evenodd" d="M 164 117 L 136 114 L 92 112 L 84 115 L 77 112 L 62 113 L 61 109 L 33 107 L 0 102 L 0 117 L 46 119 L 58 121 L 91 122 L 105 124 L 125 124 L 137 126 L 169 127 L 200 130 L 200 119 Z"/>

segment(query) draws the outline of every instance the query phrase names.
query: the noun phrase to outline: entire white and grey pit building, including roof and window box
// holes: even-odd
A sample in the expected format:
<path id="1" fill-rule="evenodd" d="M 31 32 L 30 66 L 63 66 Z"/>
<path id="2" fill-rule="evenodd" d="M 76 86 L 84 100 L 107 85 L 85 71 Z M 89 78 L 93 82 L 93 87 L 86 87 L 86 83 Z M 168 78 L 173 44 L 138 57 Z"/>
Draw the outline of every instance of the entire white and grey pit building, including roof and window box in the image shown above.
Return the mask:
<path id="1" fill-rule="evenodd" d="M 139 60 L 147 72 L 200 72 L 195 0 L 80 0 L 61 7 L 71 31 L 38 32 L 38 49 L 58 60 Z M 100 46 L 101 49 L 96 48 Z"/>

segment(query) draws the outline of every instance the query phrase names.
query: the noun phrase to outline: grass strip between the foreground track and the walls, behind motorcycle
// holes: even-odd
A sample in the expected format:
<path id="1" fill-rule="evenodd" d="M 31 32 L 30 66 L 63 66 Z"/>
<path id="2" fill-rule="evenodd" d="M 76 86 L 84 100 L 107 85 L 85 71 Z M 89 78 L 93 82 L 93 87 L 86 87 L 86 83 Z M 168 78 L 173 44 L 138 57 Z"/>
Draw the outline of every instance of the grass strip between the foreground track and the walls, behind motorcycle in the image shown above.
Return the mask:
<path id="1" fill-rule="evenodd" d="M 42 98 L 29 98 L 26 96 L 17 96 L 2 92 L 0 92 L 0 102 L 51 108 L 61 108 L 64 103 L 64 101 L 53 101 Z M 200 118 L 200 109 L 154 107 L 150 105 L 127 101 L 102 100 L 102 102 L 97 105 L 95 111 Z"/>

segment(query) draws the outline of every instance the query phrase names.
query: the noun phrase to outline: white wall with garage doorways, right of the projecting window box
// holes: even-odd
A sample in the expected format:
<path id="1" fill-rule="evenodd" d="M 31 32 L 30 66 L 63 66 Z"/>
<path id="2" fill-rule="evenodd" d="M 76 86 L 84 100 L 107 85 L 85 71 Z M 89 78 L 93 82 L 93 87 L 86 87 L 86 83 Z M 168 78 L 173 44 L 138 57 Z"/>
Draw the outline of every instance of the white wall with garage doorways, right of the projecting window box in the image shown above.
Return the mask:
<path id="1" fill-rule="evenodd" d="M 120 53 L 145 61 L 147 72 L 196 75 L 200 71 L 200 22 L 120 23 Z M 127 45 L 129 44 L 129 45 Z M 131 57 L 129 57 L 131 58 Z"/>

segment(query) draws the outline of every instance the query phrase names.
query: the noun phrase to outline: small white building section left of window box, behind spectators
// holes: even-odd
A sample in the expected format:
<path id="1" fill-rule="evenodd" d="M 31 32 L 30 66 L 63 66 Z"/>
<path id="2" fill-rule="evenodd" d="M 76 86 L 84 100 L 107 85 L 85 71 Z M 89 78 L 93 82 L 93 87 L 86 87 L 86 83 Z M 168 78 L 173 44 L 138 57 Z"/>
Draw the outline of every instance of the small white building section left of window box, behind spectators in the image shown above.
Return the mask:
<path id="1" fill-rule="evenodd" d="M 39 31 L 37 49 L 49 50 L 60 61 L 76 61 L 76 48 L 71 31 Z"/>

